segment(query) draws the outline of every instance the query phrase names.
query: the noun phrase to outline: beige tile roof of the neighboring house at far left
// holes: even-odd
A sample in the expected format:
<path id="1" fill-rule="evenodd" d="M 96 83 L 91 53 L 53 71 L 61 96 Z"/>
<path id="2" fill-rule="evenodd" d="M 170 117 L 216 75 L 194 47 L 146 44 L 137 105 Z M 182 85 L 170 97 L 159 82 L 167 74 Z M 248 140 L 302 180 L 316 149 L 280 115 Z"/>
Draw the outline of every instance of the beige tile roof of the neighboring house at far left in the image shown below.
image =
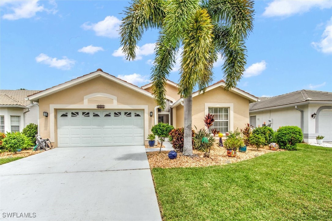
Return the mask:
<path id="1" fill-rule="evenodd" d="M 39 91 L 0 90 L 0 105 L 27 106 L 30 101 L 26 101 L 25 98 L 37 92 Z"/>

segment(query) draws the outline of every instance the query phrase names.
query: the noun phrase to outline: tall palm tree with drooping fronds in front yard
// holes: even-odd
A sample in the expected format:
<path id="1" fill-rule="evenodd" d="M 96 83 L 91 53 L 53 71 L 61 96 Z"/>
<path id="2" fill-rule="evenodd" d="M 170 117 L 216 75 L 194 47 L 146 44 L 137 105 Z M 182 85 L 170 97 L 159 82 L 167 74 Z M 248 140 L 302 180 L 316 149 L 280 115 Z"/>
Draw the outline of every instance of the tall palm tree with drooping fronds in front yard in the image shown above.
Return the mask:
<path id="1" fill-rule="evenodd" d="M 246 64 L 244 40 L 253 28 L 252 0 L 133 0 L 120 26 L 126 59 L 135 59 L 144 31 L 159 29 L 152 68 L 153 94 L 165 107 L 165 85 L 180 48 L 179 94 L 184 98 L 184 155 L 192 155 L 192 92 L 205 92 L 213 63 L 223 56 L 225 90 L 237 85 Z"/>

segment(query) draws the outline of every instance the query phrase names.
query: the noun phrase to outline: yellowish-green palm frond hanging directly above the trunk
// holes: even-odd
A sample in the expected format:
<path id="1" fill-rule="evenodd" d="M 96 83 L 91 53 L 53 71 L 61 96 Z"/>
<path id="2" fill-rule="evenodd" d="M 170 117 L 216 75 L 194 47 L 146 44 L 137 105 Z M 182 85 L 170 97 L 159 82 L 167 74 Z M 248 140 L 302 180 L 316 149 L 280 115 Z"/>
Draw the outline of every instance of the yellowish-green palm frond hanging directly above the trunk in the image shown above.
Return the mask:
<path id="1" fill-rule="evenodd" d="M 213 39 L 213 25 L 206 9 L 197 10 L 191 21 L 183 39 L 180 68 L 179 92 L 184 98 L 193 92 L 194 86 L 199 82 L 200 74 L 207 67 Z"/>

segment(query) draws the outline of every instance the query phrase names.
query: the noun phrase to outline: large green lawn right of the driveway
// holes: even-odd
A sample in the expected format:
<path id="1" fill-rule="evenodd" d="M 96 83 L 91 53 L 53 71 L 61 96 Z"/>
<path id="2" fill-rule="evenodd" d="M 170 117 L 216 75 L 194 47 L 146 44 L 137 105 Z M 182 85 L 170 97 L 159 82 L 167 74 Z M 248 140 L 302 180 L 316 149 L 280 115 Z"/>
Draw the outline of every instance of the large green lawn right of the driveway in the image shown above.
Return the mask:
<path id="1" fill-rule="evenodd" d="M 299 144 L 224 166 L 152 169 L 164 220 L 331 220 L 332 148 Z"/>

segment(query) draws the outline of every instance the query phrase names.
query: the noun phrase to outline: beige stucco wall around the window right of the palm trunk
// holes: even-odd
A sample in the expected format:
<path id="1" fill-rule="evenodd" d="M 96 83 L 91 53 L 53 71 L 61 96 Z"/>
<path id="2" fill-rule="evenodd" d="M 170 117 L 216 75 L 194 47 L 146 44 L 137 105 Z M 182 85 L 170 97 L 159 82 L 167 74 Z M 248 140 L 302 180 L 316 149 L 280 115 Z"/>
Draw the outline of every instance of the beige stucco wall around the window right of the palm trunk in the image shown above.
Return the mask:
<path id="1" fill-rule="evenodd" d="M 232 105 L 233 113 L 229 114 L 233 117 L 229 121 L 229 130 L 243 128 L 249 122 L 249 100 L 218 87 L 193 98 L 193 129 L 195 126 L 197 129 L 205 128 L 206 107 L 210 107 L 206 104 L 220 104 L 219 107 Z M 180 104 L 176 107 L 176 127 L 183 127 L 183 115 L 183 106 Z"/>

